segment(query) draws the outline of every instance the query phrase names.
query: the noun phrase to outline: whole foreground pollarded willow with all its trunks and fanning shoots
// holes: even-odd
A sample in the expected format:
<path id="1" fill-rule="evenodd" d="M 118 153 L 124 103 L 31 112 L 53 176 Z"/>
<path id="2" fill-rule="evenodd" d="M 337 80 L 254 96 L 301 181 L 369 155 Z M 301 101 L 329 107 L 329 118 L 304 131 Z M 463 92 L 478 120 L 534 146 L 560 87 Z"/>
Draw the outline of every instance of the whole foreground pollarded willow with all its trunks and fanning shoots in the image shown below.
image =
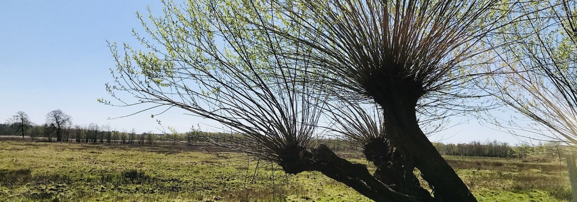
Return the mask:
<path id="1" fill-rule="evenodd" d="M 138 14 L 151 40 L 135 35 L 147 53 L 110 44 L 117 63 L 107 89 L 120 106 L 178 107 L 218 121 L 239 135 L 205 143 L 276 162 L 286 173 L 320 171 L 375 201 L 475 201 L 417 117 L 482 108 L 467 104 L 478 96 L 471 88 L 479 75 L 468 60 L 492 48 L 483 40 L 518 4 L 167 1 L 159 17 Z M 335 109 L 339 100 L 350 107 Z M 377 118 L 362 103 L 376 104 Z M 315 144 L 324 114 L 344 118 L 334 131 L 358 141 L 375 173 Z"/>

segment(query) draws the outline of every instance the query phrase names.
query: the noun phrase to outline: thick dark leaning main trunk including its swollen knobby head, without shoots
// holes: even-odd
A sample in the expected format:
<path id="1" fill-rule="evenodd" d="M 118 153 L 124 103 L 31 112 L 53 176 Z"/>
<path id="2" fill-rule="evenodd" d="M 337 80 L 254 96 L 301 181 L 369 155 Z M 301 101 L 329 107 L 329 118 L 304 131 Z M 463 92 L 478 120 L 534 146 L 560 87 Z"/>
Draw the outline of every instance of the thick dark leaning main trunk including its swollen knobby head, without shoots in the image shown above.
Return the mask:
<path id="1" fill-rule="evenodd" d="M 383 109 L 387 138 L 406 162 L 421 171 L 435 201 L 477 201 L 455 170 L 419 128 L 417 102 L 423 84 L 393 65 L 389 72 L 373 72 L 365 89 Z"/>

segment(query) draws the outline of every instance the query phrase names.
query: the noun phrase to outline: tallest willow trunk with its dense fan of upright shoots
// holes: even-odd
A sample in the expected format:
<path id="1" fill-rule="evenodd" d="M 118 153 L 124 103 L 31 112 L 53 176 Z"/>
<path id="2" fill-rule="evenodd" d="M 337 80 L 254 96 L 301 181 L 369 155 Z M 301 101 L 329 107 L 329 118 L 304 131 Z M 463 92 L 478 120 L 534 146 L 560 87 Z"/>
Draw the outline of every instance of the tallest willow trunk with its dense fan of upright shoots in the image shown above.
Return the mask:
<path id="1" fill-rule="evenodd" d="M 284 44 L 279 54 L 313 63 L 313 84 L 327 95 L 376 103 L 388 142 L 419 169 L 435 200 L 474 196 L 419 128 L 417 116 L 475 110 L 470 59 L 508 21 L 508 1 L 272 1 L 245 19 Z M 270 11 L 270 12 L 267 12 Z M 267 14 L 271 13 L 271 14 Z M 279 19 L 279 20 L 275 20 Z M 278 23 L 279 21 L 282 24 Z M 292 47 L 305 47 L 301 52 Z M 473 93 L 473 94 L 471 94 Z M 386 148 L 385 144 L 380 148 Z"/>

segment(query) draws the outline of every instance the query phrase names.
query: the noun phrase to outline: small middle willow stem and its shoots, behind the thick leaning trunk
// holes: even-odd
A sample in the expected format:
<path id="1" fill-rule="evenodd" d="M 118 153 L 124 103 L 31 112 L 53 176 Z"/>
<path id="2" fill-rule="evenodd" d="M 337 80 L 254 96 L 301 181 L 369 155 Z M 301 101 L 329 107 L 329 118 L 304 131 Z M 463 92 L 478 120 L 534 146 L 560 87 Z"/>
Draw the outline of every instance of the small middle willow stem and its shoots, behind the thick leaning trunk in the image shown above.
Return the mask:
<path id="1" fill-rule="evenodd" d="M 351 103 L 348 100 L 324 104 L 325 114 L 333 123 L 319 127 L 328 130 L 328 134 L 332 134 L 336 140 L 342 140 L 343 146 L 362 152 L 366 160 L 376 167 L 373 173 L 375 178 L 385 185 L 392 185 L 392 189 L 398 192 L 417 196 L 419 201 L 435 200 L 414 175 L 413 162 L 391 145 L 383 111 L 376 104 Z M 434 125 L 435 121 L 426 119 L 419 124 L 436 131 L 442 125 Z"/>

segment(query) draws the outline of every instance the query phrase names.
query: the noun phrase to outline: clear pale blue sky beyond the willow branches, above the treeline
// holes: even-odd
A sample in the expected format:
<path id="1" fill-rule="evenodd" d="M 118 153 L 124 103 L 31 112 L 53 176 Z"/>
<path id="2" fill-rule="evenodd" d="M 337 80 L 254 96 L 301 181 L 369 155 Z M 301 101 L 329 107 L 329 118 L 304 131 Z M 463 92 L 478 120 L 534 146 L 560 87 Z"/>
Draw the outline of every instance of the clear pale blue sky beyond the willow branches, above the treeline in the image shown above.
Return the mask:
<path id="1" fill-rule="evenodd" d="M 140 108 L 119 108 L 96 102 L 109 98 L 104 84 L 111 83 L 114 61 L 106 40 L 138 44 L 138 10 L 147 6 L 162 12 L 160 1 L 0 1 L 0 122 L 24 111 L 42 124 L 48 111 L 61 109 L 75 125 L 110 124 L 111 129 L 160 132 L 163 125 L 186 132 L 191 125 L 215 130 L 206 120 L 173 109 L 151 118 L 152 112 L 132 115 Z M 458 122 L 455 120 L 454 122 Z M 203 124 L 204 123 L 204 124 Z M 451 137 L 447 139 L 448 137 Z M 514 136 L 470 121 L 432 137 L 445 143 L 499 140 L 518 143 Z"/>

